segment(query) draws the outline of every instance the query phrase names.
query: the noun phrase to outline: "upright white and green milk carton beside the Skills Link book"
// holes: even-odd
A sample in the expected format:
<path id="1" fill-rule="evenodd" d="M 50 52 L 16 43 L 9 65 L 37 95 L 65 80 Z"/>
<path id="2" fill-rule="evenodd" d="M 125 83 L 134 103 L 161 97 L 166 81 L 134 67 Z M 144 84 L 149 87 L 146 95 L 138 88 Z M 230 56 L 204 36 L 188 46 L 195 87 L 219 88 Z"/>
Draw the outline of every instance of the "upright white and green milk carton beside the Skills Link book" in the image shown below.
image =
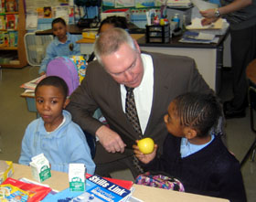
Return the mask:
<path id="1" fill-rule="evenodd" d="M 69 189 L 70 191 L 85 191 L 85 172 L 83 164 L 69 164 Z"/>

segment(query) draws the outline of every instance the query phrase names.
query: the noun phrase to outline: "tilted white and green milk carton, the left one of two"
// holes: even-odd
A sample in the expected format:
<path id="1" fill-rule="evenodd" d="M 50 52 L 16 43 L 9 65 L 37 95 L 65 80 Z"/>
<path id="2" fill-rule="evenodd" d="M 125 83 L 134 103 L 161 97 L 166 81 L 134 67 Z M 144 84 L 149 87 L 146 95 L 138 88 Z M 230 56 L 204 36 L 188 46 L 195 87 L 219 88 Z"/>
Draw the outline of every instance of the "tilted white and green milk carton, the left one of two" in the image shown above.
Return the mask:
<path id="1" fill-rule="evenodd" d="M 33 178 L 38 182 L 43 182 L 51 177 L 48 159 L 44 154 L 32 157 L 32 162 L 29 165 L 31 166 Z"/>

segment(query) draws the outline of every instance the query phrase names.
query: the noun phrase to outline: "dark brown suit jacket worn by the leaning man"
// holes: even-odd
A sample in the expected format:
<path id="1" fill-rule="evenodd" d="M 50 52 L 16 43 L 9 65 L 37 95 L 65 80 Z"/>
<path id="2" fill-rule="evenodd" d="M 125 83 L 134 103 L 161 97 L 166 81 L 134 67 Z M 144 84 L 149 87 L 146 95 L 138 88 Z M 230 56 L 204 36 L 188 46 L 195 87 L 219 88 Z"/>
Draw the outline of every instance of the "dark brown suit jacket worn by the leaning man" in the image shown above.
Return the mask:
<path id="1" fill-rule="evenodd" d="M 144 137 L 152 137 L 155 144 L 159 145 L 159 154 L 161 154 L 167 134 L 164 115 L 167 113 L 170 101 L 187 91 L 212 92 L 212 90 L 198 73 L 194 59 L 159 53 L 149 54 L 154 62 L 154 95 Z M 123 142 L 127 144 L 124 155 L 112 154 L 113 159 L 132 154 L 132 145 L 138 139 L 138 134 L 123 112 L 120 84 L 112 80 L 98 61 L 93 61 L 80 87 L 72 93 L 67 110 L 71 112 L 73 121 L 83 130 L 95 134 L 102 125 L 91 117 L 97 108 L 101 109 L 111 129 L 119 133 Z"/>

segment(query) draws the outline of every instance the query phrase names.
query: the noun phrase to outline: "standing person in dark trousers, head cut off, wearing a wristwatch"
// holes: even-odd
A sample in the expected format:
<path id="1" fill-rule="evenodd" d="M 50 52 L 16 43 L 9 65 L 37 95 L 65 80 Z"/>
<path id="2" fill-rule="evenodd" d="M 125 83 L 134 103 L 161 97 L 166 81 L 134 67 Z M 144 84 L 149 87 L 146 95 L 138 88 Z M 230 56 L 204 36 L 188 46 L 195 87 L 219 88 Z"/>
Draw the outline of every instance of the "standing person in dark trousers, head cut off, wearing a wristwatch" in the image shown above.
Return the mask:
<path id="1" fill-rule="evenodd" d="M 229 22 L 234 97 L 224 102 L 224 114 L 227 119 L 242 118 L 248 104 L 245 69 L 256 58 L 256 0 L 220 0 L 220 4 L 218 9 L 200 11 L 205 17 L 202 25 L 219 17 Z"/>

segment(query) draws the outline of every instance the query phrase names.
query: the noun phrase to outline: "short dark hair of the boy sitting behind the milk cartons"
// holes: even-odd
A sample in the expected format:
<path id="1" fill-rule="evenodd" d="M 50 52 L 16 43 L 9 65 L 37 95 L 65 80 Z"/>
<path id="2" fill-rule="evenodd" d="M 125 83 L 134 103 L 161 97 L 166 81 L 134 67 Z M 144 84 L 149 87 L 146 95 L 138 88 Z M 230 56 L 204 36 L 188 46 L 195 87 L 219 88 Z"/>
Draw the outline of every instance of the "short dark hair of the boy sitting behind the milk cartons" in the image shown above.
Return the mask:
<path id="1" fill-rule="evenodd" d="M 37 93 L 37 89 L 41 86 L 54 86 L 62 91 L 64 98 L 66 98 L 69 94 L 69 88 L 67 83 L 57 76 L 48 76 L 45 79 L 41 80 L 36 87 L 35 94 Z"/>

